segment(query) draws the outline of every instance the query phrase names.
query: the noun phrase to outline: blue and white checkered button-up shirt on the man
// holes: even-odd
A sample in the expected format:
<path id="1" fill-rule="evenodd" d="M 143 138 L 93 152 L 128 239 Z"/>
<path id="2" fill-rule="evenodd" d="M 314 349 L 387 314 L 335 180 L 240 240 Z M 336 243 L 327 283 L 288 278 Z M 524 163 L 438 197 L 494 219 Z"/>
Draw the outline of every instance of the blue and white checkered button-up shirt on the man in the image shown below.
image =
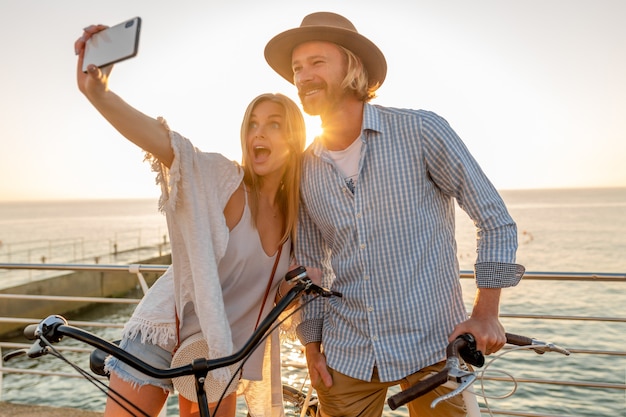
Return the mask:
<path id="1" fill-rule="evenodd" d="M 442 360 L 467 319 L 455 199 L 477 227 L 477 285 L 514 286 L 523 267 L 504 202 L 443 118 L 366 104 L 359 140 L 354 191 L 319 139 L 304 155 L 296 257 L 343 297 L 308 304 L 298 335 L 338 372 L 395 381 Z"/>

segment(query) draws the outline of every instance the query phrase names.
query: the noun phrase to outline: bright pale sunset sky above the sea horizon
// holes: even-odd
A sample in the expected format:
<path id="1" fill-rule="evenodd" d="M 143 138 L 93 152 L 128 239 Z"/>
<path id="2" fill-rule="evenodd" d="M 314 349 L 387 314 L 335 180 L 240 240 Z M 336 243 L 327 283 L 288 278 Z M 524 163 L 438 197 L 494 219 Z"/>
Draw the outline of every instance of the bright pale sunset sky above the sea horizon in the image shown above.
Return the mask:
<path id="1" fill-rule="evenodd" d="M 496 188 L 626 186 L 623 0 L 0 0 L 0 202 L 160 193 L 143 152 L 76 87 L 82 28 L 140 16 L 139 54 L 110 88 L 240 160 L 252 98 L 298 102 L 265 44 L 316 11 L 346 16 L 385 54 L 374 104 L 443 116 Z"/>

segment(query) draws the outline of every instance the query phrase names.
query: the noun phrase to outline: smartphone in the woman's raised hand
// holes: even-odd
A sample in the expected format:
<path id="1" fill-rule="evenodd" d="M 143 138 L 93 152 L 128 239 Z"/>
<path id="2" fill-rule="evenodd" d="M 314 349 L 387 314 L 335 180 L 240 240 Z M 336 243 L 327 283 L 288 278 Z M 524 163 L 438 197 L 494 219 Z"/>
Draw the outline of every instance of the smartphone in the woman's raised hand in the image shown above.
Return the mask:
<path id="1" fill-rule="evenodd" d="M 101 68 L 137 55 L 140 30 L 141 18 L 134 17 L 93 35 L 85 45 L 83 72 L 90 64 Z"/>

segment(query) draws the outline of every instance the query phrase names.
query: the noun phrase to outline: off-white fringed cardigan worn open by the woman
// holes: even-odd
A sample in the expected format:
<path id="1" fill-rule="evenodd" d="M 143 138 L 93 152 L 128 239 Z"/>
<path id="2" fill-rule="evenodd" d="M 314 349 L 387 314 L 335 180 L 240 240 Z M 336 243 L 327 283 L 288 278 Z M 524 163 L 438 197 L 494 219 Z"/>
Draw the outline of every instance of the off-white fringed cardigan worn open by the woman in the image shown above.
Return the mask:
<path id="1" fill-rule="evenodd" d="M 161 186 L 159 208 L 167 219 L 172 266 L 144 296 L 126 323 L 123 336 L 131 338 L 140 333 L 143 343 L 150 341 L 173 351 L 177 344 L 176 311 L 182 312 L 192 302 L 209 346 L 209 358 L 219 358 L 233 351 L 217 273 L 229 236 L 223 212 L 241 184 L 243 169 L 220 154 L 201 152 L 188 139 L 169 132 L 174 151 L 172 166 L 168 169 L 149 154 L 146 159 L 152 162 Z M 284 414 L 280 343 L 276 332 L 272 336 L 265 353 L 265 382 L 240 386 L 252 416 Z M 212 372 L 218 380 L 230 379 L 226 368 Z"/>

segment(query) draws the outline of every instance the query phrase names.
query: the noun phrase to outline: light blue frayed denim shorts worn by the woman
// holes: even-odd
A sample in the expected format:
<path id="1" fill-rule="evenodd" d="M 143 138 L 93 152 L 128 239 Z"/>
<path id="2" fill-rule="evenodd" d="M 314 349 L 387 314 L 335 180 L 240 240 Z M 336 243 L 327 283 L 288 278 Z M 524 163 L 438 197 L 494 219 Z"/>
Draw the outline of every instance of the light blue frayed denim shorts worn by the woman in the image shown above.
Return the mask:
<path id="1" fill-rule="evenodd" d="M 122 339 L 120 348 L 158 369 L 168 369 L 172 363 L 171 352 L 149 341 L 141 343 L 141 334 L 137 334 L 132 339 Z M 123 381 L 131 383 L 135 388 L 143 385 L 154 385 L 170 393 L 174 392 L 174 385 L 171 379 L 159 379 L 147 376 L 112 356 L 107 358 L 105 369 L 115 373 Z"/>

